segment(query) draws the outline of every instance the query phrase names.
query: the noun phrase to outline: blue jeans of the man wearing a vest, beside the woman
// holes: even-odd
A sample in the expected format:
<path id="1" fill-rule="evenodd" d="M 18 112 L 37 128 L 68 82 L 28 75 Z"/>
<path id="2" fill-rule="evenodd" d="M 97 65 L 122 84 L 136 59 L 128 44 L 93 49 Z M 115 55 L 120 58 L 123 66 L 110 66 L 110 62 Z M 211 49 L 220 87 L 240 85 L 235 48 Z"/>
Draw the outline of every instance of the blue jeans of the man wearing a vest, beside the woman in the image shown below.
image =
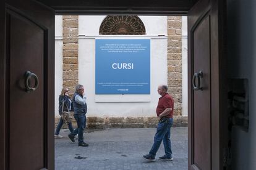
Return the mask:
<path id="1" fill-rule="evenodd" d="M 74 118 L 77 121 L 77 129 L 71 132 L 72 136 L 78 134 L 79 136 L 79 143 L 83 142 L 83 131 L 85 130 L 86 126 L 86 116 L 84 113 L 74 114 Z"/>

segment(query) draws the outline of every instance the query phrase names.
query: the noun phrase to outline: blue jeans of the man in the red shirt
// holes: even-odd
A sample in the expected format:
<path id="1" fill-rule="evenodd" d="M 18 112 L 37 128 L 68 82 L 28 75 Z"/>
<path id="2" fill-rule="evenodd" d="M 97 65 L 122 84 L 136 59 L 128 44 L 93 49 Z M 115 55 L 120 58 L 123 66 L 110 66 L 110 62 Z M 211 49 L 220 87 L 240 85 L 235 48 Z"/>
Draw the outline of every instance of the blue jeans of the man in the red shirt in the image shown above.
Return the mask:
<path id="1" fill-rule="evenodd" d="M 156 156 L 161 142 L 163 140 L 165 155 L 169 158 L 172 157 L 173 152 L 171 152 L 171 126 L 173 125 L 173 118 L 169 118 L 164 123 L 158 123 L 156 134 L 154 137 L 154 144 L 150 150 L 150 155 Z"/>

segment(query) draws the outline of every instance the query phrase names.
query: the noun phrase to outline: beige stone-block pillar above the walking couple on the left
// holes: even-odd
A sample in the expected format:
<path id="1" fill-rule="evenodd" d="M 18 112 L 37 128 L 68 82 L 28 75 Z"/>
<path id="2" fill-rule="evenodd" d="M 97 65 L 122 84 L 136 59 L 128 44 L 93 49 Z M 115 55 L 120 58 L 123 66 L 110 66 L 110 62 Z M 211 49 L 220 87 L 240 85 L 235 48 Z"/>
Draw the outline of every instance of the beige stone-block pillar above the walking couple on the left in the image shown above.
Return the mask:
<path id="1" fill-rule="evenodd" d="M 79 16 L 63 15 L 63 86 L 74 94 L 75 85 L 78 84 L 78 39 Z"/>

